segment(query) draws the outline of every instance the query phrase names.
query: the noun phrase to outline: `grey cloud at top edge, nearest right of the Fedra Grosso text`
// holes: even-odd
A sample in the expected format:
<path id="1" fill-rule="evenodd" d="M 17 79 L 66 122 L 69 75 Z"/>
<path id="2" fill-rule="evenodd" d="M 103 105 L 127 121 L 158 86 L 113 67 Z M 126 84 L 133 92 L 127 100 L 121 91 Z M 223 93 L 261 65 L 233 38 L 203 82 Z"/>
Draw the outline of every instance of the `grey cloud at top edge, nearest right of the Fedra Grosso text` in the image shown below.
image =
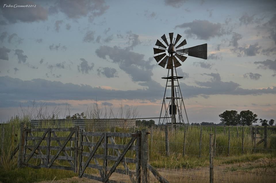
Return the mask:
<path id="1" fill-rule="evenodd" d="M 105 5 L 104 0 L 89 1 L 89 0 L 60 0 L 57 3 L 57 9 L 64 13 L 68 18 L 78 19 L 88 16 L 92 21 L 95 17 L 106 12 L 109 6 Z M 53 12 L 56 10 L 53 9 Z"/>

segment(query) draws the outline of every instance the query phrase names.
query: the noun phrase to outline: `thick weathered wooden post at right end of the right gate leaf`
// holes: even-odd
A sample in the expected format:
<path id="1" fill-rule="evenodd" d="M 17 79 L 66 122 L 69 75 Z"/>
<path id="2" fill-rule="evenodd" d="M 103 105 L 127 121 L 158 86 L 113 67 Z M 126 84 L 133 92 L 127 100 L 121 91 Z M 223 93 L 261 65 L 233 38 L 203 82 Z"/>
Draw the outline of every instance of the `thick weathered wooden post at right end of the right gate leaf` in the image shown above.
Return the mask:
<path id="1" fill-rule="evenodd" d="M 147 141 L 147 129 L 141 130 L 141 169 L 142 183 L 148 183 L 149 144 Z"/>

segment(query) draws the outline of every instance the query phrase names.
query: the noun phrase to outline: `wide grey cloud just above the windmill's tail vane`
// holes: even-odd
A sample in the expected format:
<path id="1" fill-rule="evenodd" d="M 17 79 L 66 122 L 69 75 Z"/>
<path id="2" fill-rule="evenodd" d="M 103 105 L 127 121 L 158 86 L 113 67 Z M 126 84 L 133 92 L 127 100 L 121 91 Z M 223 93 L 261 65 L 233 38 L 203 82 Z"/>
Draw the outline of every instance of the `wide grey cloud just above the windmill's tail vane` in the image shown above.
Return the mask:
<path id="1" fill-rule="evenodd" d="M 184 28 L 184 32 L 188 37 L 196 36 L 200 40 L 209 40 L 210 38 L 231 33 L 231 30 L 226 31 L 223 29 L 221 23 L 212 23 L 208 20 L 194 20 L 176 25 L 175 28 Z"/>

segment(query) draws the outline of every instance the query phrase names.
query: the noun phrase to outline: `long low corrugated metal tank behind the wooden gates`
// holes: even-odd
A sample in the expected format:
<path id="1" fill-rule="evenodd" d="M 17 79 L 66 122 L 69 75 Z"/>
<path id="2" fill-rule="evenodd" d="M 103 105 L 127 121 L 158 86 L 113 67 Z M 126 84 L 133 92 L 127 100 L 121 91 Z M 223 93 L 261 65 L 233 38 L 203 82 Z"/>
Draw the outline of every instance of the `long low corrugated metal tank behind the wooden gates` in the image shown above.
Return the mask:
<path id="1" fill-rule="evenodd" d="M 110 127 L 131 128 L 135 126 L 135 119 L 51 119 L 51 120 L 31 120 L 31 128 L 47 128 L 49 126 L 64 128 L 78 125 L 79 128 L 85 129 L 94 126 L 95 130 L 106 129 Z"/>

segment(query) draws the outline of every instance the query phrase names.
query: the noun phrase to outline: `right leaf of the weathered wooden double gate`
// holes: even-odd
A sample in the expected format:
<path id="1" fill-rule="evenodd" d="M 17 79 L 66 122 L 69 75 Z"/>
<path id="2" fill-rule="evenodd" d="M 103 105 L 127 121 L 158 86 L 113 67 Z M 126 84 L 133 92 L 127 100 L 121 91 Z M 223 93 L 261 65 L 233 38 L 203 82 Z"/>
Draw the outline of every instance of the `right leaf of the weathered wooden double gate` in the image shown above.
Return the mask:
<path id="1" fill-rule="evenodd" d="M 109 179 L 115 172 L 129 175 L 131 182 L 140 182 L 140 135 L 139 131 L 112 133 L 80 130 L 79 177 L 115 183 L 118 181 Z M 127 163 L 132 166 L 127 166 Z M 99 172 L 99 176 L 95 170 Z"/>

